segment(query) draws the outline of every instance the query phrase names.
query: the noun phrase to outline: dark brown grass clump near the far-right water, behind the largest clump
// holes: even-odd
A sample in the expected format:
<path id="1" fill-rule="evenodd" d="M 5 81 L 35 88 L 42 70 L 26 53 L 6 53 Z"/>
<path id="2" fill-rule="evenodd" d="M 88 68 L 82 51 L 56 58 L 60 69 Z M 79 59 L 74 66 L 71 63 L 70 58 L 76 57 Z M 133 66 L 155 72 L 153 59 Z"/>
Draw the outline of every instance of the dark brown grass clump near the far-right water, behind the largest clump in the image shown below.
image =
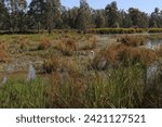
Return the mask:
<path id="1" fill-rule="evenodd" d="M 129 47 L 139 47 L 146 43 L 145 37 L 137 37 L 137 36 L 123 36 L 117 39 L 118 42 L 124 43 Z"/>

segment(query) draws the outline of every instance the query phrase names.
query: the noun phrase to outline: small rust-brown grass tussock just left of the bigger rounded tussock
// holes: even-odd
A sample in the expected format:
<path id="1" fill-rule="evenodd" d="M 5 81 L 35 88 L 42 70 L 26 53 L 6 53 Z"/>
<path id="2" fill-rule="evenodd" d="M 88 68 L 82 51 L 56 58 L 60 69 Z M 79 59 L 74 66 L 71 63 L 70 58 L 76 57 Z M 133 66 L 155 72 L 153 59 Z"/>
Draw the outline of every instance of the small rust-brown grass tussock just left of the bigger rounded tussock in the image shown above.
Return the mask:
<path id="1" fill-rule="evenodd" d="M 52 46 L 51 40 L 48 37 L 43 37 L 38 46 L 38 50 L 44 50 Z"/>

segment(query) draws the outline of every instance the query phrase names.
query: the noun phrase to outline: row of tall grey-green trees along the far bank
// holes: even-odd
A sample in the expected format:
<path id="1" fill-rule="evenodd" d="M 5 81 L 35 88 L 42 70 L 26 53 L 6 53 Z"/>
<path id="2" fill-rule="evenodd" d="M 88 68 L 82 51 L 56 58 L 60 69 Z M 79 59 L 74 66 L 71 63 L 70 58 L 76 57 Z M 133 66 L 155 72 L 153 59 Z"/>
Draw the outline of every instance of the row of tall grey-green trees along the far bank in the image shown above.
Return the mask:
<path id="1" fill-rule="evenodd" d="M 105 9 L 92 9 L 86 0 L 80 0 L 80 7 L 72 9 L 60 4 L 60 0 L 1 0 L 0 30 L 19 31 L 46 29 L 89 28 L 159 28 L 162 27 L 162 11 L 156 8 L 151 14 L 136 8 L 119 10 L 116 1 Z"/>

